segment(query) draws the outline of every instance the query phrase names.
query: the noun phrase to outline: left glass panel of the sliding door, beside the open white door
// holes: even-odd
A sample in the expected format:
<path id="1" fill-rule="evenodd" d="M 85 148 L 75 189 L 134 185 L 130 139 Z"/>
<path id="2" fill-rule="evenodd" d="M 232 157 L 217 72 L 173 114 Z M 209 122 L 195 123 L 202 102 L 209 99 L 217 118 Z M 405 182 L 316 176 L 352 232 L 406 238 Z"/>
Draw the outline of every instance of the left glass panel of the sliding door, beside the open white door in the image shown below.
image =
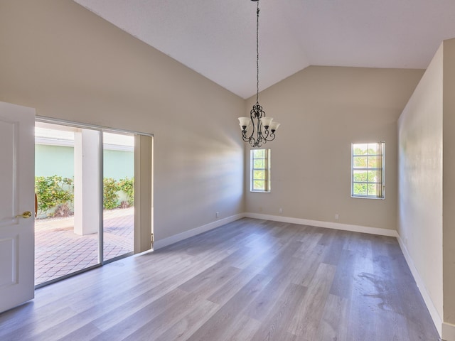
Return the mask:
<path id="1" fill-rule="evenodd" d="M 100 132 L 36 122 L 35 285 L 100 264 Z"/>

